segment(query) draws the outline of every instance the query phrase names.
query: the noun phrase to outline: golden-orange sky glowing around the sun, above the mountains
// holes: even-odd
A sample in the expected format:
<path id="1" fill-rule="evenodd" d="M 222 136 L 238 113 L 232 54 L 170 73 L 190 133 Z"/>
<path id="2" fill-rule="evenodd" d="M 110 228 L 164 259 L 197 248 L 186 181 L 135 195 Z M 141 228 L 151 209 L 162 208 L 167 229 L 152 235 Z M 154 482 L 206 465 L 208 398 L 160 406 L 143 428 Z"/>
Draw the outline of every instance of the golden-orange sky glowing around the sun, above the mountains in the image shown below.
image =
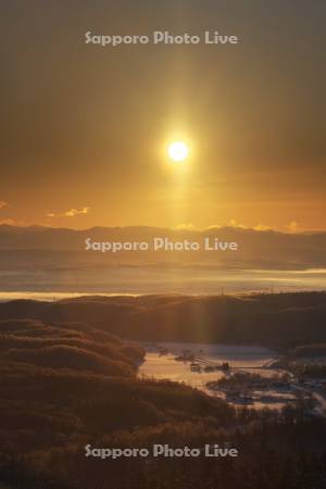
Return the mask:
<path id="1" fill-rule="evenodd" d="M 325 228 L 325 15 L 303 0 L 5 2 L 0 222 Z M 155 29 L 240 43 L 84 42 Z"/>

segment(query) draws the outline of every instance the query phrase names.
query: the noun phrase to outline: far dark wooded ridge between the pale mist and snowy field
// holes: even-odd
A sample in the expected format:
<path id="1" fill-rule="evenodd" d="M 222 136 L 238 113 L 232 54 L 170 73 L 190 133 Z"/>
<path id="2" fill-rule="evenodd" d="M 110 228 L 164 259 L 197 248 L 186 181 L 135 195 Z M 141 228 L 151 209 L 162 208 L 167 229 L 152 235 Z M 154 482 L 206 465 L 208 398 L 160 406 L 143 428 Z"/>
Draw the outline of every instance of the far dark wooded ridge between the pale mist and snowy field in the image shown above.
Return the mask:
<path id="1" fill-rule="evenodd" d="M 261 344 L 326 342 L 326 292 L 220 297 L 82 297 L 0 304 L 0 318 L 86 322 L 136 340 Z"/>

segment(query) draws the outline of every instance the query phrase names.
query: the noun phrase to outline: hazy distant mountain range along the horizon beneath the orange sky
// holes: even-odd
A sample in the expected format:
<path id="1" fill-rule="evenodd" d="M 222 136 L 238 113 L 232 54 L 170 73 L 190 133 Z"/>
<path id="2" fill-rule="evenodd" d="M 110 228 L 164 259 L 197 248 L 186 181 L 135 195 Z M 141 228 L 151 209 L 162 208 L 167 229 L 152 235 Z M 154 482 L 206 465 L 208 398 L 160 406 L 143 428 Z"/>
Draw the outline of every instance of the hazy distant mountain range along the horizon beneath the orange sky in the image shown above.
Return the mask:
<path id="1" fill-rule="evenodd" d="M 86 239 L 91 242 L 148 242 L 146 251 L 102 253 L 86 251 Z M 198 251 L 153 251 L 154 238 L 173 242 L 199 242 Z M 212 243 L 236 242 L 237 251 L 204 250 L 204 239 Z M 326 268 L 326 231 L 286 234 L 275 230 L 255 230 L 240 227 L 221 227 L 208 230 L 172 230 L 155 227 L 92 227 L 85 230 L 42 226 L 0 226 L 0 252 L 75 252 L 91 262 L 201 264 L 264 269 Z M 35 253 L 34 253 L 35 254 Z"/>

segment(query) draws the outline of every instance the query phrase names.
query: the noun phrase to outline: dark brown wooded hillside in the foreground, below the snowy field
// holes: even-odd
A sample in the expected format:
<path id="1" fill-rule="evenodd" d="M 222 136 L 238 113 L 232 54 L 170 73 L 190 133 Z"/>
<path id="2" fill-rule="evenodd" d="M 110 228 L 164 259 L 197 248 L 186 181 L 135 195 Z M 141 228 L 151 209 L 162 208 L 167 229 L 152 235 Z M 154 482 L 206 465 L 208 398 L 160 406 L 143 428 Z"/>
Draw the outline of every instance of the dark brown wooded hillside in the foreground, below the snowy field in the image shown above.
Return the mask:
<path id="1" fill-rule="evenodd" d="M 142 356 L 138 347 L 85 323 L 0 321 L 0 484 L 10 489 L 325 487 L 324 418 L 309 417 L 299 404 L 278 414 L 236 411 L 184 385 L 137 379 Z M 239 457 L 86 459 L 88 443 L 149 450 L 153 443 L 230 443 Z"/>

